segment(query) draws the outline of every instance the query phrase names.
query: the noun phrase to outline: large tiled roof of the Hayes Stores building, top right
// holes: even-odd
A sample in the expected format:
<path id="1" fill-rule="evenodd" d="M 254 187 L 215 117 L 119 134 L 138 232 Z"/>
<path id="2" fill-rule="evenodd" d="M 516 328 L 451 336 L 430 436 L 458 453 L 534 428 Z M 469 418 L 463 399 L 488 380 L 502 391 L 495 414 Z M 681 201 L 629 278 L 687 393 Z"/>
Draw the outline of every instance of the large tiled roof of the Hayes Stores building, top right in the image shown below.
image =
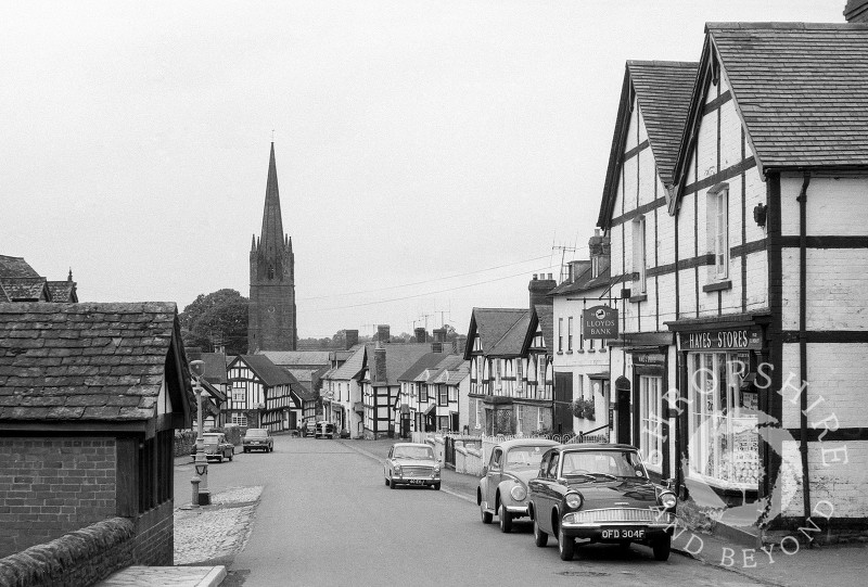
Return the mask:
<path id="1" fill-rule="evenodd" d="M 868 166 L 868 24 L 705 29 L 763 168 Z"/>

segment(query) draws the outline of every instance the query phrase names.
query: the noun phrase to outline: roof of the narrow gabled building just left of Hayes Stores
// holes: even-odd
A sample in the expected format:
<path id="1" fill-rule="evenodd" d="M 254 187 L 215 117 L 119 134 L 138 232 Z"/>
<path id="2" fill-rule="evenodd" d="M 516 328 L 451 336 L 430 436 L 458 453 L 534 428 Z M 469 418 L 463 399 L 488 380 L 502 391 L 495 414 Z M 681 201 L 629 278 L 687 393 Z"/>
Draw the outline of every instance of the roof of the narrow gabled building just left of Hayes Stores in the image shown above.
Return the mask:
<path id="1" fill-rule="evenodd" d="M 648 143 L 658 165 L 658 175 L 664 186 L 673 184 L 698 66 L 698 63 L 678 61 L 627 61 L 598 226 L 609 228 L 609 221 L 612 219 L 634 92 L 644 119 Z"/>

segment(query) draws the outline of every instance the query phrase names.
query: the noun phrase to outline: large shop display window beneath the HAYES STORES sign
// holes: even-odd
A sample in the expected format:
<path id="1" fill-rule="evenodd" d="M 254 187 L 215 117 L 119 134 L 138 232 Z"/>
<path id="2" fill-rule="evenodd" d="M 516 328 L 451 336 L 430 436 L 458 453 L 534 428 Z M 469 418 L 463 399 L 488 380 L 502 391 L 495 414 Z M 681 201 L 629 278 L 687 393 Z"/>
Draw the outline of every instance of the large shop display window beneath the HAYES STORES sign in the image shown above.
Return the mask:
<path id="1" fill-rule="evenodd" d="M 748 353 L 688 355 L 690 474 L 725 487 L 760 480 L 756 394 L 741 391 Z"/>

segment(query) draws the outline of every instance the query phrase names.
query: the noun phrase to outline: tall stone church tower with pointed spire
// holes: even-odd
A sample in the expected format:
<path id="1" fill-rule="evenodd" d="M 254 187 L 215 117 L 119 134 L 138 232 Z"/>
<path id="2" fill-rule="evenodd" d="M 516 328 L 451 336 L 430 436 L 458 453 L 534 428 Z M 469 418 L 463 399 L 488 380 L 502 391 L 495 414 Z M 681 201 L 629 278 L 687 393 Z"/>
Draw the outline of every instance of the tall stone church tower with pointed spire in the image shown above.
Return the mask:
<path id="1" fill-rule="evenodd" d="M 251 305 L 247 353 L 295 350 L 295 256 L 283 232 L 275 143 L 268 162 L 263 232 L 251 247 Z"/>

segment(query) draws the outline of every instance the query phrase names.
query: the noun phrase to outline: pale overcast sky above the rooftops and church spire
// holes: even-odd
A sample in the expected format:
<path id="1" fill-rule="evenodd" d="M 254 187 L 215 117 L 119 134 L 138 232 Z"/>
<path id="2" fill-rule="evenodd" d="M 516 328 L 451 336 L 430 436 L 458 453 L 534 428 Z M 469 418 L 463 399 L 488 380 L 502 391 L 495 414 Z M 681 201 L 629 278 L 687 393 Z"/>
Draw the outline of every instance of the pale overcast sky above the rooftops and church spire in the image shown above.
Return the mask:
<path id="1" fill-rule="evenodd" d="M 273 140 L 301 337 L 467 332 L 587 258 L 627 60 L 845 3 L 0 0 L 0 254 L 81 302 L 247 296 Z"/>

